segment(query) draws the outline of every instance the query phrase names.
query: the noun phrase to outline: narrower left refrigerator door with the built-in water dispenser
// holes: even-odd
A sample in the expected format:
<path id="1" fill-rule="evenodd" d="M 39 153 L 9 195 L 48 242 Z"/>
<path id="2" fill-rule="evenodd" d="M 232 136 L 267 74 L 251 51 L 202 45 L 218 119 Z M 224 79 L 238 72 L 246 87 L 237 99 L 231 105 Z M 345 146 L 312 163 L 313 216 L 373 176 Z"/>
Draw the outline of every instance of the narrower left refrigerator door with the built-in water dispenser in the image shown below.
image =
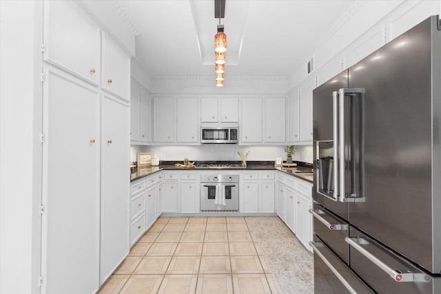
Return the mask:
<path id="1" fill-rule="evenodd" d="M 334 155 L 338 151 L 336 141 L 338 109 L 334 105 L 333 92 L 348 87 L 348 72 L 342 72 L 313 91 L 314 116 L 314 191 L 313 198 L 323 207 L 349 220 L 349 206 L 338 202 L 335 195 L 334 179 L 338 174 L 335 169 Z"/>

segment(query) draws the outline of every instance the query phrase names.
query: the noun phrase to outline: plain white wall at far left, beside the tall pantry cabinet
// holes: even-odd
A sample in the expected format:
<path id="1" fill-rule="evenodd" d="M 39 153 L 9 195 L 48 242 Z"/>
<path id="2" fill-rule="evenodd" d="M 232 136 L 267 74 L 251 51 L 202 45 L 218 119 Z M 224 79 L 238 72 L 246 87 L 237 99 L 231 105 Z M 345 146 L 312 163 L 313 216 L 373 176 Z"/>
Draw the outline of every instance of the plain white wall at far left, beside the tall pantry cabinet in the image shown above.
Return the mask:
<path id="1" fill-rule="evenodd" d="M 41 1 L 0 1 L 0 293 L 5 294 L 40 293 L 41 83 L 36 76 L 42 15 Z"/>

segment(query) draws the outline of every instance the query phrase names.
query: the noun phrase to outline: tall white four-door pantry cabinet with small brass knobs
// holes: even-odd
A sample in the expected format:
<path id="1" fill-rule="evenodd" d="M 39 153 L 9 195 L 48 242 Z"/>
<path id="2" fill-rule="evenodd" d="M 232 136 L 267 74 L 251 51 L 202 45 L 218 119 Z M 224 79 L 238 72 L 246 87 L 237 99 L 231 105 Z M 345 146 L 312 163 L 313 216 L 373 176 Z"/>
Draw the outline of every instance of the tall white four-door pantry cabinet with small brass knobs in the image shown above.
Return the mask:
<path id="1" fill-rule="evenodd" d="M 42 293 L 94 293 L 130 249 L 130 57 L 43 1 Z"/>

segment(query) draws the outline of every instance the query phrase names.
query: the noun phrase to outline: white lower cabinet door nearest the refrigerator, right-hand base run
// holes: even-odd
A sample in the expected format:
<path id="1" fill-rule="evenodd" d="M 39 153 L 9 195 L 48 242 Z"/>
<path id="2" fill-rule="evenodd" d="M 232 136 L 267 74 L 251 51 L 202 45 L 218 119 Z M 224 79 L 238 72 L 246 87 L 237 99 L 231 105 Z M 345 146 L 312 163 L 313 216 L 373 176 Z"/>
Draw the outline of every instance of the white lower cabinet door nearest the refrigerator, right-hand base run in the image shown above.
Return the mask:
<path id="1" fill-rule="evenodd" d="M 309 241 L 312 240 L 311 230 L 311 198 L 297 193 L 296 200 L 296 236 L 302 244 L 309 249 Z M 311 250 L 311 249 L 309 249 Z"/>

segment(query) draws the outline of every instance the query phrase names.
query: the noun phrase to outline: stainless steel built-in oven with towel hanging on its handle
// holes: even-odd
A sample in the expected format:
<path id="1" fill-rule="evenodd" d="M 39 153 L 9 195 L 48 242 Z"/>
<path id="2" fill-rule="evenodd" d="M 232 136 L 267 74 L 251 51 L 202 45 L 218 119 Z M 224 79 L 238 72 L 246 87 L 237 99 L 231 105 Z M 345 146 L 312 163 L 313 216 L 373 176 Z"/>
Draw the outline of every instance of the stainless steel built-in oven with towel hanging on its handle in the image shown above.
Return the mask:
<path id="1" fill-rule="evenodd" d="M 201 211 L 238 211 L 238 175 L 202 175 Z"/>

